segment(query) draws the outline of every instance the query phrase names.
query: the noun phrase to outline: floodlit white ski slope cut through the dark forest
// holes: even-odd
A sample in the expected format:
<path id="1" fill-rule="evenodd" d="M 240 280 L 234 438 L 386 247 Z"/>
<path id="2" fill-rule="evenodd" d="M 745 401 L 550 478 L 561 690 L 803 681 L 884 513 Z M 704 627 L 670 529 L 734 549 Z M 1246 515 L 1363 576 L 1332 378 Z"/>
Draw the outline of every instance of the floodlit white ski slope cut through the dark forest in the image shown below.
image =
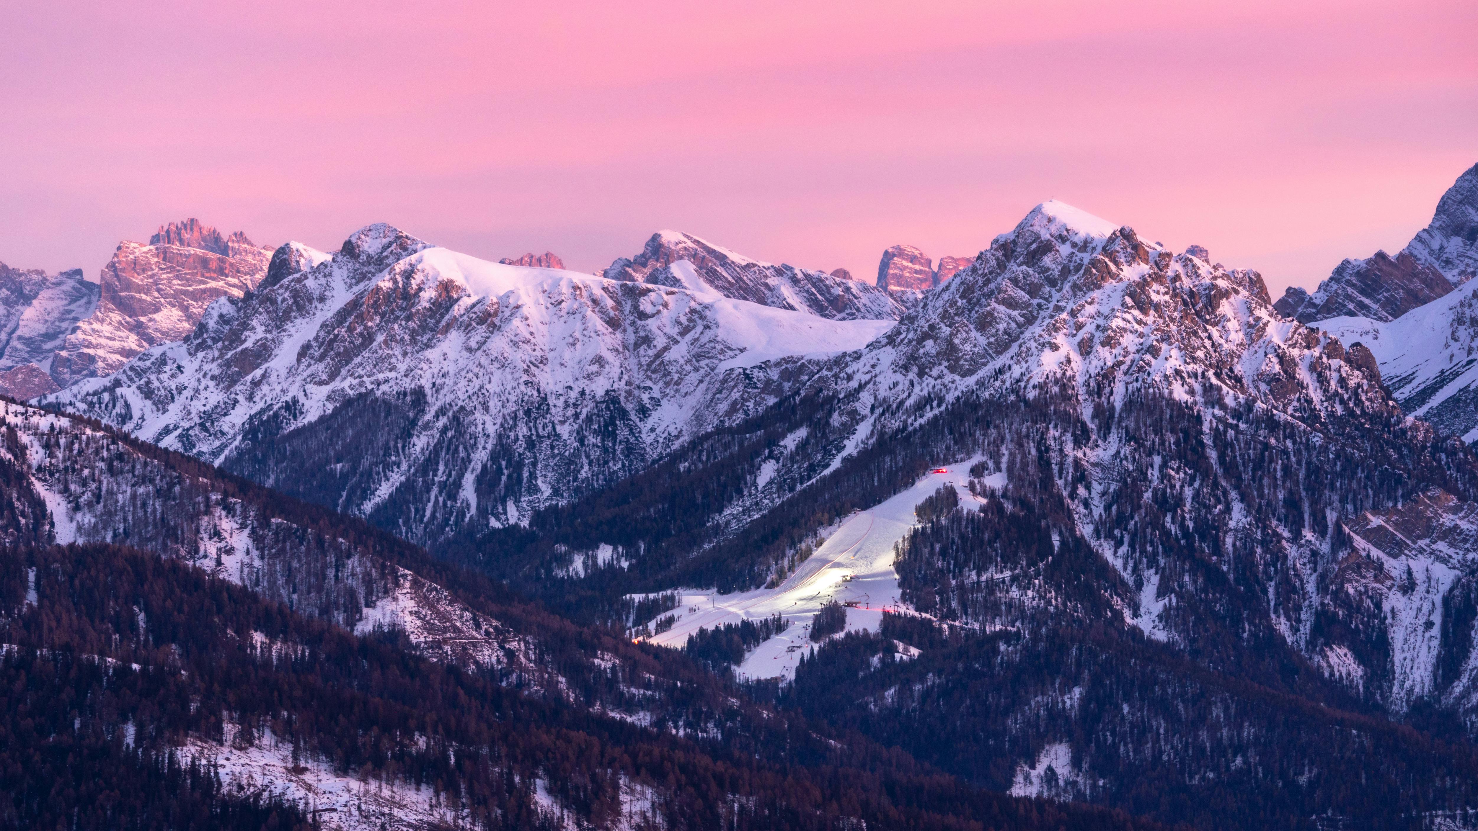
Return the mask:
<path id="1" fill-rule="evenodd" d="M 810 623 L 822 604 L 832 599 L 856 602 L 856 608 L 847 610 L 847 630 L 876 632 L 884 611 L 913 611 L 899 601 L 899 574 L 893 570 L 893 546 L 915 525 L 913 506 L 946 483 L 955 486 L 961 502 L 974 500 L 965 484 L 971 463 L 973 461 L 959 462 L 943 468 L 946 472 L 931 472 L 885 502 L 851 514 L 831 531 L 810 559 L 774 589 L 732 595 L 680 589 L 678 607 L 667 613 L 675 616 L 677 621 L 650 642 L 681 648 L 699 627 L 714 629 L 779 613 L 791 627 L 760 644 L 736 670 L 745 677 L 789 679 L 795 675 L 803 649 L 813 645 Z M 986 481 L 1001 487 L 1005 477 L 995 474 Z"/>

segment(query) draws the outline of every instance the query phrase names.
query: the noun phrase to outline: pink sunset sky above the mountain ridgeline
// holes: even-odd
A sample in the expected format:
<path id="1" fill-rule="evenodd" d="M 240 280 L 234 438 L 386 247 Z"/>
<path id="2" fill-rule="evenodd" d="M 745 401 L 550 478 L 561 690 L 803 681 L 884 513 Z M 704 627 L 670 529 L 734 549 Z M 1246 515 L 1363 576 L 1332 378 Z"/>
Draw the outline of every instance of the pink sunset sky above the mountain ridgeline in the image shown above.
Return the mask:
<path id="1" fill-rule="evenodd" d="M 1063 199 L 1264 272 L 1478 161 L 1478 3 L 9 3 L 0 261 L 200 217 L 591 270 L 662 227 L 876 273 Z"/>

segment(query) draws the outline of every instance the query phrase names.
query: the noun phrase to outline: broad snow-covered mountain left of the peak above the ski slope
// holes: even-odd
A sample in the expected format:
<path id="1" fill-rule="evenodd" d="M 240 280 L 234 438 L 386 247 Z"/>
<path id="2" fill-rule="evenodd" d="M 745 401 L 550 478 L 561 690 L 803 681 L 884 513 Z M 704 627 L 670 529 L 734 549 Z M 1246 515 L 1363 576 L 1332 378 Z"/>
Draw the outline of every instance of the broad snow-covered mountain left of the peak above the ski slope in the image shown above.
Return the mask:
<path id="1" fill-rule="evenodd" d="M 777 306 L 819 295 L 760 279 L 795 270 L 692 254 L 704 261 L 647 258 L 636 282 L 488 263 L 384 224 L 331 257 L 290 244 L 183 341 L 47 401 L 409 539 L 517 523 L 757 412 L 894 323 L 733 300 L 714 275 L 733 294 L 774 288 Z M 896 310 L 868 286 L 832 298 Z"/>

